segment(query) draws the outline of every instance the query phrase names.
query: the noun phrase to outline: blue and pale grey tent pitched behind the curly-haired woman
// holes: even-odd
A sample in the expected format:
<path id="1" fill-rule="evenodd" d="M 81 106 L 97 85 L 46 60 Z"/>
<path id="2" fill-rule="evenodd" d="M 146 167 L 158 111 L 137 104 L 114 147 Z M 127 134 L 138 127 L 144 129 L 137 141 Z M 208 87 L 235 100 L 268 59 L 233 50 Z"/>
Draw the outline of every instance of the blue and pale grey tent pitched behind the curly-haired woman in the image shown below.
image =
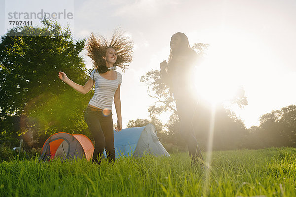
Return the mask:
<path id="1" fill-rule="evenodd" d="M 116 158 L 132 155 L 141 157 L 145 153 L 169 156 L 152 124 L 145 127 L 126 128 L 120 132 L 114 130 L 114 145 Z"/>

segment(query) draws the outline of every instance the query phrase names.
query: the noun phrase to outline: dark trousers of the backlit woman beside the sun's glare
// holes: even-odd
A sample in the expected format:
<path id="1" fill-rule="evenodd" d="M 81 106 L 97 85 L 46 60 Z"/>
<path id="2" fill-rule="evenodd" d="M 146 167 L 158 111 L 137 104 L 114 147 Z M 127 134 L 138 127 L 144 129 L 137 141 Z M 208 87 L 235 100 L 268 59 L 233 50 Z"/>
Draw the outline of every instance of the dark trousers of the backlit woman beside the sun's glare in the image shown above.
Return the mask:
<path id="1" fill-rule="evenodd" d="M 180 120 L 180 133 L 188 145 L 189 156 L 194 163 L 201 163 L 203 157 L 195 133 L 201 129 L 199 117 L 204 114 L 201 114 L 197 103 L 188 99 L 176 99 L 176 108 Z"/>

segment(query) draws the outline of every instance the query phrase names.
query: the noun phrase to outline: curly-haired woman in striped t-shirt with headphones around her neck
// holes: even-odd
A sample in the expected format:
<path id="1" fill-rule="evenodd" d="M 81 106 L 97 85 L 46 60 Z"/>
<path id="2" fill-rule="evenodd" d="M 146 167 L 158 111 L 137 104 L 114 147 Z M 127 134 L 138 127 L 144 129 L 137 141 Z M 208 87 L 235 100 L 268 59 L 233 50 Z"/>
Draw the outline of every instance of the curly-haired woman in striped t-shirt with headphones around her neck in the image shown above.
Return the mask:
<path id="1" fill-rule="evenodd" d="M 109 162 L 115 161 L 114 132 L 112 119 L 112 103 L 114 100 L 117 114 L 117 132 L 122 129 L 120 86 L 122 75 L 115 71 L 120 67 L 122 71 L 132 61 L 132 42 L 115 31 L 108 42 L 102 36 L 91 33 L 86 49 L 93 60 L 95 69 L 91 72 L 84 86 L 70 80 L 64 72 L 59 72 L 59 78 L 82 94 L 88 93 L 95 85 L 95 93 L 85 109 L 84 119 L 95 140 L 93 161 L 100 164 L 104 148 Z"/>

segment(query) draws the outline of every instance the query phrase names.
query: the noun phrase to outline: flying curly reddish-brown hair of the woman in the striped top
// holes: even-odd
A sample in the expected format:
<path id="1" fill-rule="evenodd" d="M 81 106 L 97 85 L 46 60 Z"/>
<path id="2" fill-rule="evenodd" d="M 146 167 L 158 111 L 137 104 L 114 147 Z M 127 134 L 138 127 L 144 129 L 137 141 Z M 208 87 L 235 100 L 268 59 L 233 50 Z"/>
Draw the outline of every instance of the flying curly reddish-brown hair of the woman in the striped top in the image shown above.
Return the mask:
<path id="1" fill-rule="evenodd" d="M 93 60 L 95 68 L 106 64 L 102 57 L 106 56 L 108 48 L 115 49 L 117 60 L 114 66 L 120 67 L 124 72 L 127 66 L 129 66 L 128 63 L 133 60 L 133 42 L 118 29 L 113 32 L 110 41 L 101 35 L 95 36 L 91 33 L 86 43 L 86 50 L 88 52 L 87 55 Z"/>

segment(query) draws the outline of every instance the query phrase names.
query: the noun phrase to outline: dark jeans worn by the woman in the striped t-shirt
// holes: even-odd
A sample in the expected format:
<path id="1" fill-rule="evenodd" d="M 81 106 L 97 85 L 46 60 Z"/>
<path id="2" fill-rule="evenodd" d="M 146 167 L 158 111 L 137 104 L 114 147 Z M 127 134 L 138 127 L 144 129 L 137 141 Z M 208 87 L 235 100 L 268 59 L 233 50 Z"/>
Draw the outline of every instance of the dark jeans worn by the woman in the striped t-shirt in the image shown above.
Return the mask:
<path id="1" fill-rule="evenodd" d="M 87 107 L 84 110 L 84 119 L 88 129 L 95 139 L 93 161 L 100 164 L 104 148 L 109 162 L 115 161 L 114 131 L 112 113 L 105 116 L 102 110 Z"/>

